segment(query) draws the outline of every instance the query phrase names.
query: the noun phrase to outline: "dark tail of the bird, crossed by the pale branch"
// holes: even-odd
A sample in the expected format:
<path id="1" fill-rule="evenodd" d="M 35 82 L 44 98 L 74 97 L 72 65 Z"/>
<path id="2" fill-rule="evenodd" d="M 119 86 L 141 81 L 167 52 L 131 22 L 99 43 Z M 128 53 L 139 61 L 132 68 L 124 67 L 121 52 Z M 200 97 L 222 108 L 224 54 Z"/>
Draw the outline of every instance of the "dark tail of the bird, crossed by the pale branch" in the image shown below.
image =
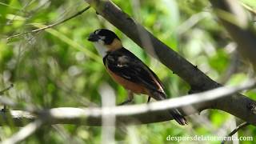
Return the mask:
<path id="1" fill-rule="evenodd" d="M 154 91 L 151 94 L 153 94 L 152 97 L 158 101 L 166 99 L 165 93 Z M 176 122 L 178 122 L 178 124 L 180 124 L 182 126 L 188 124 L 188 122 L 186 121 L 186 118 L 177 109 L 171 109 L 168 111 L 169 111 L 170 115 L 174 118 L 174 120 Z"/>

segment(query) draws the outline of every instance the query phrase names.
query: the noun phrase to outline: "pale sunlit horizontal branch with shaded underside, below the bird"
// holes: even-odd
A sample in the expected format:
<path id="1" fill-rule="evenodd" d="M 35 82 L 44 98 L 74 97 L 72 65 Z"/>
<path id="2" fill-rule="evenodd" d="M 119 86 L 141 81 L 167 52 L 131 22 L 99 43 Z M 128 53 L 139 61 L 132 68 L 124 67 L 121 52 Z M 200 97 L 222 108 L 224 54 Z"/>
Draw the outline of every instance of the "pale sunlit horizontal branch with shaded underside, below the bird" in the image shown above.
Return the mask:
<path id="1" fill-rule="evenodd" d="M 195 114 L 200 110 L 208 109 L 209 106 L 218 100 L 218 98 L 230 98 L 230 94 L 235 94 L 239 90 L 246 90 L 254 86 L 256 86 L 256 83 L 250 81 L 241 86 L 219 87 L 214 90 L 208 90 L 198 94 L 190 94 L 180 98 L 171 98 L 160 102 L 132 106 L 94 107 L 84 109 L 71 107 L 54 108 L 39 111 L 37 113 L 38 117 L 27 112 L 12 110 L 10 111 L 10 118 L 13 118 L 16 126 L 23 126 L 27 122 L 31 122 L 34 118 L 40 118 L 42 119 L 42 122 L 46 122 L 47 124 L 102 126 L 103 114 L 104 116 L 115 115 L 117 125 L 164 122 L 173 119 L 170 117 L 167 110 L 180 108 L 183 110 L 184 115 Z M 194 106 L 193 110 L 191 110 L 191 106 Z M 9 117 L 6 114 L 8 113 L 0 112 L 0 121 L 8 122 Z M 253 118 L 246 118 L 246 121 L 256 126 L 255 118 L 256 113 Z M 22 120 L 26 121 L 22 122 Z"/>

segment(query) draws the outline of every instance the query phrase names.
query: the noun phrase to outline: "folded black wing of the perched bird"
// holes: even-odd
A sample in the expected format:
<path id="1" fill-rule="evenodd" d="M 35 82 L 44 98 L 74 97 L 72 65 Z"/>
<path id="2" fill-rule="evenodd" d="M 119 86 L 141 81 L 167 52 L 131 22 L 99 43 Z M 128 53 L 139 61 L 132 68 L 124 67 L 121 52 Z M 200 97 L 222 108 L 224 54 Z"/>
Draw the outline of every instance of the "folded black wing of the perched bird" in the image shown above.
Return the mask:
<path id="1" fill-rule="evenodd" d="M 125 48 L 107 54 L 103 59 L 109 70 L 131 82 L 140 83 L 150 90 L 163 91 L 159 78 L 140 59 Z"/>

